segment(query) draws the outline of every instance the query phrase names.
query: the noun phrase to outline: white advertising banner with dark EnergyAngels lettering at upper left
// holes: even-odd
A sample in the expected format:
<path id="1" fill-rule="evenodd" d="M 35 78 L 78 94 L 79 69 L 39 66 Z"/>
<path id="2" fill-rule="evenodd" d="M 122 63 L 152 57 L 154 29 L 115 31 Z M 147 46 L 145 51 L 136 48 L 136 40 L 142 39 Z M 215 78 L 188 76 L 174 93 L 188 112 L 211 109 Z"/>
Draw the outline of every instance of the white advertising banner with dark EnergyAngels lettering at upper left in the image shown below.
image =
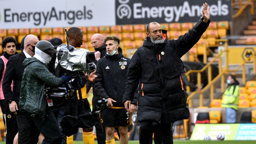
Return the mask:
<path id="1" fill-rule="evenodd" d="M 0 0 L 0 29 L 116 25 L 115 0 Z"/>

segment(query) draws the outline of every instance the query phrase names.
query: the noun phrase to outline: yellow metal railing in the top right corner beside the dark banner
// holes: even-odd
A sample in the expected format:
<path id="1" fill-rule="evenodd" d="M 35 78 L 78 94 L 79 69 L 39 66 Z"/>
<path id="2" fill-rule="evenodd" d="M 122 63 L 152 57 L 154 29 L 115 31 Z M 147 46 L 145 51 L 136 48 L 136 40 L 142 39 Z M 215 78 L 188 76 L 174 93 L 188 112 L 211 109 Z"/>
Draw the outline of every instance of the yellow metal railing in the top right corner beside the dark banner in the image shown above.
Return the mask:
<path id="1" fill-rule="evenodd" d="M 232 17 L 233 18 L 236 18 L 238 16 L 240 16 L 243 11 L 245 10 L 245 8 L 247 8 L 249 5 L 251 5 L 251 14 L 254 15 L 254 0 L 248 0 L 244 5 L 243 5 L 243 0 L 239 0 L 239 4 L 238 4 L 238 7 L 239 7 L 239 10 L 236 14 L 234 14 Z M 236 7 L 236 3 L 235 3 L 235 0 L 232 0 L 232 7 Z"/>

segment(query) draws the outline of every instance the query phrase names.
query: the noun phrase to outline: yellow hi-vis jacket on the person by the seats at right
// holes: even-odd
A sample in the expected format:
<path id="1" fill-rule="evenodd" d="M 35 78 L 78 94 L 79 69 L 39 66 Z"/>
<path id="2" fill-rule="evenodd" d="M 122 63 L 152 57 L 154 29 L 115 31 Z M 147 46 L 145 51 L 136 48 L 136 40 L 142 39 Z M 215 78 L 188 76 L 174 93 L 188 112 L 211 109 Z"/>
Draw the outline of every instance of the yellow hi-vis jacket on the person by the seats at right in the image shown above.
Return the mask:
<path id="1" fill-rule="evenodd" d="M 239 85 L 230 85 L 222 96 L 222 107 L 238 110 Z"/>

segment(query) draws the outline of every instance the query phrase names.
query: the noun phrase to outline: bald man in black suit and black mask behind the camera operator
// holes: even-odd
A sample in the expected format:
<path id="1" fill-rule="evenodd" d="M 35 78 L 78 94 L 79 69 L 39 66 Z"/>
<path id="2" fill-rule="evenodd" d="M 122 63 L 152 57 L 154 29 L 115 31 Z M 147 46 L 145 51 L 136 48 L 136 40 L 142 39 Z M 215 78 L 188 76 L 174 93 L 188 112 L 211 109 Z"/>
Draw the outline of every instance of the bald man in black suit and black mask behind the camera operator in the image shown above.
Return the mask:
<path id="1" fill-rule="evenodd" d="M 4 79 L 3 79 L 3 93 L 4 98 L 7 103 L 9 103 L 9 109 L 12 113 L 17 114 L 18 103 L 20 100 L 20 89 L 22 74 L 24 72 L 24 67 L 22 65 L 25 58 L 34 56 L 35 45 L 38 42 L 38 38 L 35 35 L 27 35 L 24 39 L 24 50 L 17 55 L 11 56 L 6 66 Z M 11 89 L 11 83 L 13 81 L 13 91 Z M 12 116 L 13 123 L 17 123 L 16 116 Z M 17 129 L 17 124 L 13 124 L 13 127 L 8 127 L 8 129 Z M 32 138 L 32 137 L 31 137 Z M 31 144 L 36 144 L 38 141 L 38 136 L 34 137 L 34 141 Z"/>

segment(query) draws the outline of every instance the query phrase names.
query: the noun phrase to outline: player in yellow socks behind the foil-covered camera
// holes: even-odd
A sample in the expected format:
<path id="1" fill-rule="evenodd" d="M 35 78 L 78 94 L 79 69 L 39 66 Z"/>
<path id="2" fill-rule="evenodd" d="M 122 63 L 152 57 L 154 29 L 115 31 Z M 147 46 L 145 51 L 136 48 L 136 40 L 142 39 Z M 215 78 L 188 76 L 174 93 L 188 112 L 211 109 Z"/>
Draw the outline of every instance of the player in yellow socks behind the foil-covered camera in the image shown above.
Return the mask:
<path id="1" fill-rule="evenodd" d="M 71 27 L 70 29 L 68 29 L 67 31 L 67 35 L 68 35 L 68 44 L 73 46 L 73 47 L 81 47 L 81 45 L 83 44 L 83 31 L 81 29 L 79 29 L 78 27 Z M 56 72 L 56 76 L 60 77 L 63 76 L 64 73 L 67 73 L 68 71 L 66 69 L 61 69 L 60 71 Z M 96 72 L 96 71 L 95 71 Z M 94 75 L 94 73 L 91 73 L 89 76 L 86 74 L 81 74 L 80 77 L 80 87 L 81 91 L 82 91 L 82 95 L 83 95 L 83 104 L 84 104 L 84 110 L 85 112 L 90 112 L 91 111 L 91 107 L 90 104 L 87 100 L 86 97 L 86 86 L 85 83 L 87 82 L 87 80 L 90 81 L 95 81 L 96 79 L 96 75 Z M 73 85 L 75 89 L 79 89 L 76 85 Z M 75 95 L 78 96 L 77 93 L 75 93 Z M 79 111 L 81 110 L 81 108 L 79 107 L 80 103 L 78 102 L 78 99 L 74 99 L 71 100 L 67 103 L 65 103 L 65 109 L 64 109 L 64 115 L 72 115 L 72 116 L 77 116 L 78 113 L 80 113 Z M 83 129 L 83 141 L 84 143 L 87 144 L 95 144 L 95 140 L 93 137 L 93 128 L 88 128 L 88 129 Z M 67 137 L 67 143 L 68 144 L 72 144 L 73 143 L 73 136 Z"/>

